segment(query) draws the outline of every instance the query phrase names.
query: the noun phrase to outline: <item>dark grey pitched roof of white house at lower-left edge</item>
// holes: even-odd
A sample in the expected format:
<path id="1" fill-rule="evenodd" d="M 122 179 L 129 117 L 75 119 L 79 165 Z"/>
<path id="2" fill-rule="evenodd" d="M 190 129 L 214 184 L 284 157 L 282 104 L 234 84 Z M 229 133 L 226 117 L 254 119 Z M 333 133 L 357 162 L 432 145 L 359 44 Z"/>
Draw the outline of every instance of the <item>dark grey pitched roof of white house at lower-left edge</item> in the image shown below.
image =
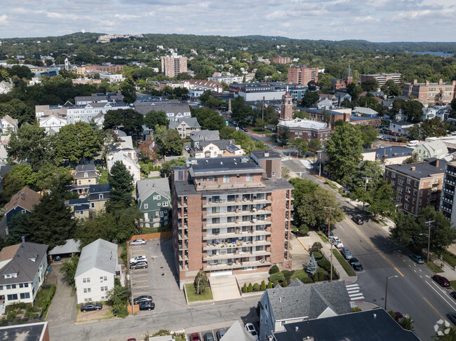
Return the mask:
<path id="1" fill-rule="evenodd" d="M 0 284 L 14 284 L 33 281 L 39 270 L 41 260 L 46 257 L 48 246 L 23 242 L 18 244 L 18 250 L 13 258 L 0 269 Z M 17 273 L 17 277 L 5 278 L 4 274 Z"/>

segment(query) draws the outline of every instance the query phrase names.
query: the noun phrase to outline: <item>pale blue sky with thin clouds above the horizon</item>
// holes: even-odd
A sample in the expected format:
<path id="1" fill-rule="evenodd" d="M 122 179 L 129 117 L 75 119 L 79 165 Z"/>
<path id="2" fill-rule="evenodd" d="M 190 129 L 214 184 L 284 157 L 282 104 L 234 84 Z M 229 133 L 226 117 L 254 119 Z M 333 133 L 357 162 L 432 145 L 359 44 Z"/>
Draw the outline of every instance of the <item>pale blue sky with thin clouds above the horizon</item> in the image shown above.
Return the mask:
<path id="1" fill-rule="evenodd" d="M 456 41 L 456 0 L 0 0 L 0 39 L 105 34 Z"/>

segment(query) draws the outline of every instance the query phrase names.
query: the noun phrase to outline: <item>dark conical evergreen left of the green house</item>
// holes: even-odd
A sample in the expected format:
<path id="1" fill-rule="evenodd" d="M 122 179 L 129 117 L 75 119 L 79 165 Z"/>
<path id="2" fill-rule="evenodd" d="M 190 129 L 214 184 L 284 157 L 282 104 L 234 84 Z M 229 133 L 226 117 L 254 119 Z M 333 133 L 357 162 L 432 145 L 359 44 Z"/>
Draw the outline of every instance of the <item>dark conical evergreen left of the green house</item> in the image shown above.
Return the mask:
<path id="1" fill-rule="evenodd" d="M 107 211 L 119 204 L 121 207 L 130 207 L 133 201 L 133 175 L 128 172 L 127 167 L 121 161 L 114 162 L 108 175 L 108 183 L 111 186 Z M 114 205 L 116 206 L 116 205 Z"/>

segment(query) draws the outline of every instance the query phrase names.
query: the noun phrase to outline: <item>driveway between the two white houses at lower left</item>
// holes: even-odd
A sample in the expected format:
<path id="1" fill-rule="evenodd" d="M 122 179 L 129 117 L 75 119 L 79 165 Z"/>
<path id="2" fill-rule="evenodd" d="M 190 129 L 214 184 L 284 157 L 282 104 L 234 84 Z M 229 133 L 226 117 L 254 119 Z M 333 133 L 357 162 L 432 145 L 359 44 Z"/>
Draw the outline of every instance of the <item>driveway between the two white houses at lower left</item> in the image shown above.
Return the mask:
<path id="1" fill-rule="evenodd" d="M 63 281 L 60 267 L 61 262 L 52 262 L 46 279 L 47 284 L 55 284 L 55 294 L 46 316 L 50 326 L 69 326 L 76 319 L 76 293 Z"/>

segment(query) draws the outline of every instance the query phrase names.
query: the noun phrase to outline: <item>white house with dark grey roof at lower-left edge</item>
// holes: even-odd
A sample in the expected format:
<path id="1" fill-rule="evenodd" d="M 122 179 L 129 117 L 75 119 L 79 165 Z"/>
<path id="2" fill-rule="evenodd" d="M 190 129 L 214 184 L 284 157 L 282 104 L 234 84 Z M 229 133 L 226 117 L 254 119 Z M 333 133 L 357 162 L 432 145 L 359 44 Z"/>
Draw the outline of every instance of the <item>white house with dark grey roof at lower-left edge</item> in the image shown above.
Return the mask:
<path id="1" fill-rule="evenodd" d="M 46 244 L 25 242 L 0 251 L 0 301 L 32 303 L 48 268 Z"/>

